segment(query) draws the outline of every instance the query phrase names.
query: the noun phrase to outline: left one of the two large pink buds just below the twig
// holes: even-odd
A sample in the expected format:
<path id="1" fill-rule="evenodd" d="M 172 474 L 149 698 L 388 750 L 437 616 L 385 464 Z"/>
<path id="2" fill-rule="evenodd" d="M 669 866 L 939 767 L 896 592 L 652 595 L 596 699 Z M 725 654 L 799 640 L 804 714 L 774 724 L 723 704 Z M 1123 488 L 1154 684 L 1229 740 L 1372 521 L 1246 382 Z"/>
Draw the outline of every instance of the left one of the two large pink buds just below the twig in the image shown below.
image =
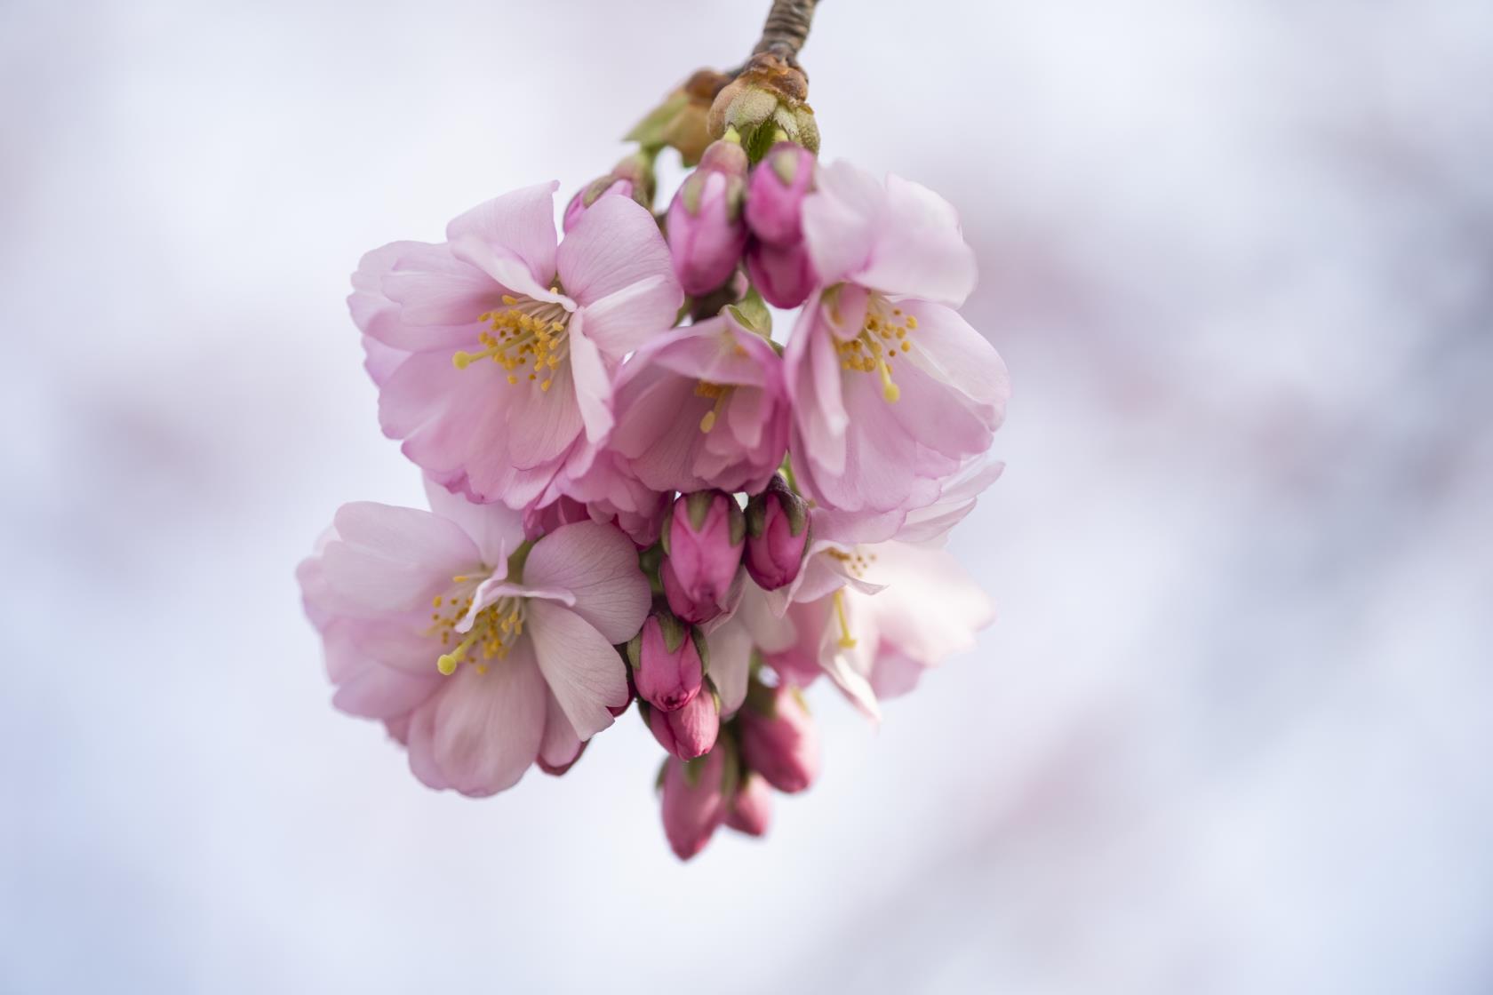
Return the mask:
<path id="1" fill-rule="evenodd" d="M 715 142 L 669 204 L 669 255 L 684 292 L 709 294 L 730 279 L 746 248 L 746 152 Z"/>

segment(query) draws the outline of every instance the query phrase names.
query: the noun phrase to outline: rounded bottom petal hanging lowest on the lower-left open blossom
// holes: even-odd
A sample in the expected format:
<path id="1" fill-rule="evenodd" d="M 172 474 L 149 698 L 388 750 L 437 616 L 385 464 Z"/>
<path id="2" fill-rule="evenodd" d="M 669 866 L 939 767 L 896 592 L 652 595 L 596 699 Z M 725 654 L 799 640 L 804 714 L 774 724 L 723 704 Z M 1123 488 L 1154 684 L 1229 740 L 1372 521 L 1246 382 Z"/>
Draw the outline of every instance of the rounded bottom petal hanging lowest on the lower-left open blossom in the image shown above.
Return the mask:
<path id="1" fill-rule="evenodd" d="M 512 788 L 545 731 L 545 680 L 529 641 L 518 640 L 485 674 L 463 665 L 445 680 L 431 741 L 440 777 L 463 795 Z"/>

